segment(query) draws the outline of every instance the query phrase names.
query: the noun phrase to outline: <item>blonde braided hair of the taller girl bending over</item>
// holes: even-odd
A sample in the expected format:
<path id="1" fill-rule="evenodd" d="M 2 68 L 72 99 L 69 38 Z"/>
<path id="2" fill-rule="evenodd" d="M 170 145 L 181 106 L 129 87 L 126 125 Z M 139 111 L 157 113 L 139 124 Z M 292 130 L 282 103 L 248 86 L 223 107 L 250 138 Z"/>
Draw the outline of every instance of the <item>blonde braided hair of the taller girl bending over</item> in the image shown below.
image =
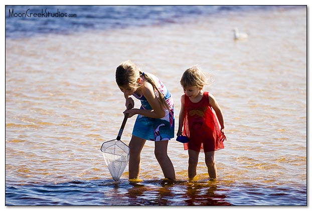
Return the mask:
<path id="1" fill-rule="evenodd" d="M 170 110 L 170 107 L 168 103 L 166 102 L 166 99 L 163 95 L 163 93 L 158 89 L 156 86 L 154 80 L 149 77 L 147 74 L 143 73 L 136 65 L 131 62 L 130 60 L 122 62 L 117 68 L 116 68 L 116 83 L 118 86 L 125 86 L 129 85 L 130 88 L 135 89 L 137 88 L 137 79 L 144 75 L 143 80 L 147 81 L 151 84 L 154 91 L 158 92 L 158 100 L 160 101 L 161 105 L 163 105 L 164 108 Z"/>

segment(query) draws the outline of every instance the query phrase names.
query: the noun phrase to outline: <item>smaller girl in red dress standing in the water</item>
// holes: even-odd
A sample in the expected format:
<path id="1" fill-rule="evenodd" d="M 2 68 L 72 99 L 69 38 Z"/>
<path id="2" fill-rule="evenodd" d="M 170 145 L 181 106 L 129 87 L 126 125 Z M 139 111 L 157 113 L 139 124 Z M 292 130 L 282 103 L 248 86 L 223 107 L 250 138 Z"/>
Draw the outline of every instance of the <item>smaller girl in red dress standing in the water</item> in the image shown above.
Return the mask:
<path id="1" fill-rule="evenodd" d="M 226 140 L 221 108 L 215 97 L 203 90 L 207 79 L 197 65 L 184 72 L 180 83 L 185 94 L 181 96 L 177 136 L 185 135 L 189 138 L 189 142 L 184 143 L 184 149 L 188 149 L 189 152 L 189 178 L 197 174 L 199 152 L 205 152 L 205 162 L 210 178 L 217 178 L 215 150 L 223 149 L 223 141 Z"/>

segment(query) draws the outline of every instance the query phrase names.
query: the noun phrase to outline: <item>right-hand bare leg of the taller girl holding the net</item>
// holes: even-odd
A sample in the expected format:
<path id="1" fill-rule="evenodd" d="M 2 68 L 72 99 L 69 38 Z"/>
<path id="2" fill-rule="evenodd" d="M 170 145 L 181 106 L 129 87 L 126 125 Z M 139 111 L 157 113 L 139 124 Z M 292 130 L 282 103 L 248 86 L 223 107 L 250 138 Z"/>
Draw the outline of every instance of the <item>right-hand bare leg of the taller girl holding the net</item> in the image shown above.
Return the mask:
<path id="1" fill-rule="evenodd" d="M 155 141 L 155 157 L 163 170 L 165 178 L 176 179 L 174 165 L 167 154 L 168 141 Z"/>

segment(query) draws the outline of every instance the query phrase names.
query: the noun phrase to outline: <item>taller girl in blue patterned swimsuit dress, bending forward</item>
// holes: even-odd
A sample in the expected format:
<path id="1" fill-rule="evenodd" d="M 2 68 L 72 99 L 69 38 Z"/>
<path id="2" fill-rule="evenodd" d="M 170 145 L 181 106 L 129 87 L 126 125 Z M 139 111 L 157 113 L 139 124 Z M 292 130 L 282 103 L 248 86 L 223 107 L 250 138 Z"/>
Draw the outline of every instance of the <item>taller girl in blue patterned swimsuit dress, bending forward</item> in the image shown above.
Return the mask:
<path id="1" fill-rule="evenodd" d="M 146 140 L 154 141 L 154 154 L 164 176 L 175 179 L 175 169 L 167 154 L 168 141 L 175 135 L 174 101 L 171 93 L 156 76 L 142 72 L 130 60 L 117 67 L 116 83 L 124 93 L 127 108 L 129 104 L 134 106 L 131 95 L 141 101 L 140 109 L 124 111 L 129 117 L 138 114 L 129 143 L 129 179 L 139 176 L 140 153 Z"/>

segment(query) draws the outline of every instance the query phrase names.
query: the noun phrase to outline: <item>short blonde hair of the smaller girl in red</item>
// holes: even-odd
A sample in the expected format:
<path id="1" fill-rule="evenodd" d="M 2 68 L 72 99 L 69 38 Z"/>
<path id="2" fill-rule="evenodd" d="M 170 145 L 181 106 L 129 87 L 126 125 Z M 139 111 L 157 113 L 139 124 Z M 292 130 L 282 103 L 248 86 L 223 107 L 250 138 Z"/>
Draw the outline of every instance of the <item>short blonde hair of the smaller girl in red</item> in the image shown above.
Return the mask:
<path id="1" fill-rule="evenodd" d="M 199 65 L 193 65 L 183 73 L 180 84 L 182 87 L 195 86 L 203 88 L 204 85 L 209 85 L 209 80 L 205 73 L 201 71 Z"/>

